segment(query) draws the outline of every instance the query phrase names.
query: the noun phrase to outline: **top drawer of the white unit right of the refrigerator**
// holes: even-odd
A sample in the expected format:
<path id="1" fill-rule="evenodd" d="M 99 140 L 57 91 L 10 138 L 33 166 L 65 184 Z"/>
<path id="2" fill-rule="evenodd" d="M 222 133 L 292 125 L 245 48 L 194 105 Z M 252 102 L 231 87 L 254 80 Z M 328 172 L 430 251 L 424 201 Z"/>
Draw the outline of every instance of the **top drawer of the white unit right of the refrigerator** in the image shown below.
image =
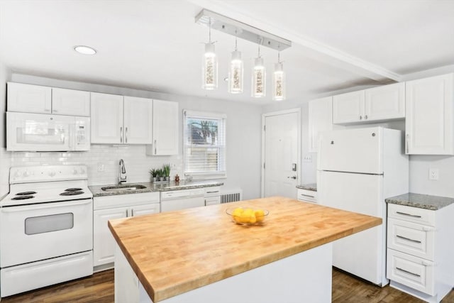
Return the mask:
<path id="1" fill-rule="evenodd" d="M 435 211 L 418 207 L 388 204 L 389 218 L 435 226 Z"/>

